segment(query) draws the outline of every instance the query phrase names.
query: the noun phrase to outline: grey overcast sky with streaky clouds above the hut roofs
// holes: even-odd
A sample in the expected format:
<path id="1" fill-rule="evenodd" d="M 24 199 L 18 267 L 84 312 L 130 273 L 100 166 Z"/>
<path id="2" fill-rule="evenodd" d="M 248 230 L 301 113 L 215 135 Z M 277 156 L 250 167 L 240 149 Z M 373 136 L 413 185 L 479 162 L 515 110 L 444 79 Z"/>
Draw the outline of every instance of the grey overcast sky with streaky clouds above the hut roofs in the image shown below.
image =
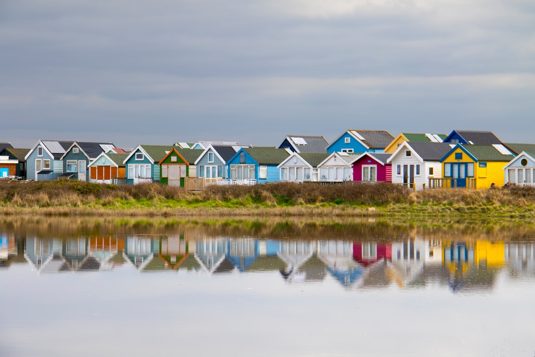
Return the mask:
<path id="1" fill-rule="evenodd" d="M 533 0 L 0 0 L 0 141 L 535 143 Z"/>

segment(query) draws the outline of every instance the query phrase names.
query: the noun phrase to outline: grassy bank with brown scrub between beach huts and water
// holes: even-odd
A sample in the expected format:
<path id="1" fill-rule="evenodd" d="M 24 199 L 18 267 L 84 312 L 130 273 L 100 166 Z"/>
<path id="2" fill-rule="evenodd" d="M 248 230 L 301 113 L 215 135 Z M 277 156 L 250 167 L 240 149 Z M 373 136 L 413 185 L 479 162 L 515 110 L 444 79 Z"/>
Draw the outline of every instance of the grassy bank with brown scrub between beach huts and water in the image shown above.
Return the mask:
<path id="1" fill-rule="evenodd" d="M 369 216 L 484 215 L 530 217 L 535 188 L 427 189 L 399 185 L 279 183 L 211 186 L 201 193 L 159 184 L 100 185 L 75 180 L 0 181 L 5 215 Z"/>

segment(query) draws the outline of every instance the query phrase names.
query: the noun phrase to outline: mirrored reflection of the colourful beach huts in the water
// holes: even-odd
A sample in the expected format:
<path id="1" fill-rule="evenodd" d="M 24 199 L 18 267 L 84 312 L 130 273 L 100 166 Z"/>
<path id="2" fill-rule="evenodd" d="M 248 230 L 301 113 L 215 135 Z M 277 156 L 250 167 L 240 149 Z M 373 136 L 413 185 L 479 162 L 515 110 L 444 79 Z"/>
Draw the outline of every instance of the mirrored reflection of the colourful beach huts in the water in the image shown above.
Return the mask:
<path id="1" fill-rule="evenodd" d="M 272 272 L 286 284 L 329 278 L 347 290 L 431 284 L 489 291 L 498 276 L 535 277 L 533 242 L 409 237 L 372 240 L 260 239 L 193 234 L 106 234 L 72 238 L 0 233 L 0 267 L 28 264 L 38 274 L 187 270 L 199 275 Z"/>

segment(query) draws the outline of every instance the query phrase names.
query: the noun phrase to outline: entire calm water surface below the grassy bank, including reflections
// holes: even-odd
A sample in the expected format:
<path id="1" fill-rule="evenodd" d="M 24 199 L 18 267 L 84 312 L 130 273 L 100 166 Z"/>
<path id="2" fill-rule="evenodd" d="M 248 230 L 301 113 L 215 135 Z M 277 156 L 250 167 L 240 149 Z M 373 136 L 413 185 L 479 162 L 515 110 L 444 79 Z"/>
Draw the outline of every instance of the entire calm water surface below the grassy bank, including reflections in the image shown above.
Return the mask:
<path id="1" fill-rule="evenodd" d="M 0 355 L 534 356 L 516 223 L 0 222 Z"/>

